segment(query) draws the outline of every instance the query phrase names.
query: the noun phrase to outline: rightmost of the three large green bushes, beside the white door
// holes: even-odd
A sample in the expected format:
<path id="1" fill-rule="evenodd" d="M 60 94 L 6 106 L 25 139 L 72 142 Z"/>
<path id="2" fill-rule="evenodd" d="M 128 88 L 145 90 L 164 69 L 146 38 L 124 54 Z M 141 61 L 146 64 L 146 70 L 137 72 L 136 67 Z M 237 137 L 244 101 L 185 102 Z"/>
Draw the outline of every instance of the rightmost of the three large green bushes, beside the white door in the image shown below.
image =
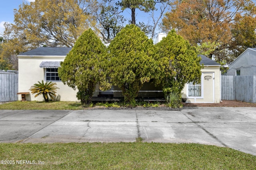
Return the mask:
<path id="1" fill-rule="evenodd" d="M 200 82 L 201 58 L 197 56 L 196 49 L 174 30 L 156 44 L 156 51 L 162 66 L 158 80 L 165 97 L 171 92 L 181 95 L 188 82 Z"/>

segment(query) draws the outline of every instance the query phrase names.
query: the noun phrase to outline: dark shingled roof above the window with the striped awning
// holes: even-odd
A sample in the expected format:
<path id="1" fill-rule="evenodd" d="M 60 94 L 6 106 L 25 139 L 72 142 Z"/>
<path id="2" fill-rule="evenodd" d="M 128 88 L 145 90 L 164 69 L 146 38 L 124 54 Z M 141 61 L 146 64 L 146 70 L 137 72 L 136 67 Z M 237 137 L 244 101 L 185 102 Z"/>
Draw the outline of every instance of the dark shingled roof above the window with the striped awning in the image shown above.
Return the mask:
<path id="1" fill-rule="evenodd" d="M 71 49 L 71 47 L 39 47 L 18 56 L 66 56 Z"/>

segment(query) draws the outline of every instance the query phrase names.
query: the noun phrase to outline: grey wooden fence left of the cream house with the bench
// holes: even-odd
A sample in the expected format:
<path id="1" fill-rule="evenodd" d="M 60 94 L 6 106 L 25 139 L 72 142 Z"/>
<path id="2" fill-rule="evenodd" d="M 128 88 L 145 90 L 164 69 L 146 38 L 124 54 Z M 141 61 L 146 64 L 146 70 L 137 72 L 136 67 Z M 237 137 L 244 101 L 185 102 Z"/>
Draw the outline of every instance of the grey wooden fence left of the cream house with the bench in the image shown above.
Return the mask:
<path id="1" fill-rule="evenodd" d="M 0 70 L 0 102 L 18 100 L 18 71 Z"/>

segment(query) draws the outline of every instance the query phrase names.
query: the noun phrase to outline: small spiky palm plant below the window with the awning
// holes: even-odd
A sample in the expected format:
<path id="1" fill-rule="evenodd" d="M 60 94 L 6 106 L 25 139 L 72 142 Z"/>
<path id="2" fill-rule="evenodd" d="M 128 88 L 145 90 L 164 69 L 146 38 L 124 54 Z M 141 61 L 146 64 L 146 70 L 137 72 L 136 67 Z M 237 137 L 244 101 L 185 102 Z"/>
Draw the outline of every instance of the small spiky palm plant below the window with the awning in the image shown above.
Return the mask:
<path id="1" fill-rule="evenodd" d="M 57 84 L 55 82 L 47 81 L 44 83 L 44 80 L 42 80 L 42 82 L 38 81 L 38 83 L 34 84 L 34 86 L 31 86 L 29 90 L 32 92 L 32 94 L 36 94 L 35 97 L 42 94 L 44 96 L 44 101 L 49 102 L 48 94 L 53 100 L 53 96 L 56 96 L 56 90 L 59 89 L 56 85 Z"/>

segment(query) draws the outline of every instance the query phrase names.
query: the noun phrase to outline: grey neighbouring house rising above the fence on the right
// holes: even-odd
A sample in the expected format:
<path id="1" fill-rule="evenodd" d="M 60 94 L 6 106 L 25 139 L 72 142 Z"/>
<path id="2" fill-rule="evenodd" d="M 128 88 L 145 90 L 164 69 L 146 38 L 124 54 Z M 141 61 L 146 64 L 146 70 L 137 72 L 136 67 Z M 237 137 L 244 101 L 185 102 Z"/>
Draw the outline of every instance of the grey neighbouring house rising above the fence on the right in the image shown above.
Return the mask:
<path id="1" fill-rule="evenodd" d="M 227 76 L 256 75 L 256 48 L 248 48 L 228 64 Z"/>

